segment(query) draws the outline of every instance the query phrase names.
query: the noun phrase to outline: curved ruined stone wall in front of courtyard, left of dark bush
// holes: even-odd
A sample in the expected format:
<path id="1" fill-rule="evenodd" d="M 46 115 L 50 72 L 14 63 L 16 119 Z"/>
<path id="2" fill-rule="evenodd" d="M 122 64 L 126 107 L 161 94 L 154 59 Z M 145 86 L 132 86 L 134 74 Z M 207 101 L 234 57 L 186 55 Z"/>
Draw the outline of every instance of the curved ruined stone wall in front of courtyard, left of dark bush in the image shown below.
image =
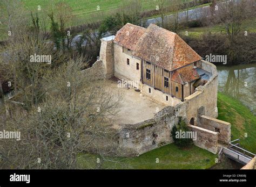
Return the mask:
<path id="1" fill-rule="evenodd" d="M 172 127 L 178 124 L 176 108 L 167 106 L 154 118 L 137 124 L 124 125 L 119 132 L 122 156 L 138 156 L 149 150 L 172 143 Z"/>

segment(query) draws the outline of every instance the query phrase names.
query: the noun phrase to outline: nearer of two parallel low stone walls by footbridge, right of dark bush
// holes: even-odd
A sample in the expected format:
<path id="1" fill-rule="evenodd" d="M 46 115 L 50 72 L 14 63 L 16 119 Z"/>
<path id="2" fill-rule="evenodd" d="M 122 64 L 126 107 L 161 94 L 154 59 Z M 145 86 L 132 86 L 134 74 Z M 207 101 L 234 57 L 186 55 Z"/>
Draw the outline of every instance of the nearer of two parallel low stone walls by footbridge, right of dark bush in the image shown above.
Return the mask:
<path id="1" fill-rule="evenodd" d="M 206 130 L 205 128 L 188 125 L 191 131 L 197 132 L 197 139 L 194 145 L 206 149 L 213 154 L 218 152 L 218 133 Z"/>

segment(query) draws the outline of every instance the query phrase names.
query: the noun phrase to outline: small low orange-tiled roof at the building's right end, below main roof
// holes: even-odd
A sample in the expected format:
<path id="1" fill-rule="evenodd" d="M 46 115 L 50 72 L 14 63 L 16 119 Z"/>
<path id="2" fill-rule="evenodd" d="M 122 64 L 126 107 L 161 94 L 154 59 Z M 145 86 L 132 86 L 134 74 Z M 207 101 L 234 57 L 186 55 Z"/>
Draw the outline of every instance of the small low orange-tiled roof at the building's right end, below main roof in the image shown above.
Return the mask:
<path id="1" fill-rule="evenodd" d="M 185 66 L 174 70 L 171 80 L 180 84 L 186 84 L 197 80 L 198 78 L 200 78 L 200 75 L 197 73 L 197 70 L 193 68 L 193 66 Z"/>

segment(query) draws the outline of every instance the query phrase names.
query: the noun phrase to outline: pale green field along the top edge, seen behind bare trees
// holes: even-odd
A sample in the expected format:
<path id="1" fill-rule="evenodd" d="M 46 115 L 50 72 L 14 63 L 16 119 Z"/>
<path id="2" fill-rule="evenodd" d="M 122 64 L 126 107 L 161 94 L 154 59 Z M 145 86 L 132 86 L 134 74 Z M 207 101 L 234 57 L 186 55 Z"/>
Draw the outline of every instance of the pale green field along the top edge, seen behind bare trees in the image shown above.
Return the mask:
<path id="1" fill-rule="evenodd" d="M 155 10 L 159 5 L 158 0 L 139 0 L 142 2 L 143 11 Z M 181 0 L 185 1 L 185 0 Z M 193 1 L 193 0 L 189 0 Z M 58 2 L 64 2 L 72 9 L 72 14 L 75 16 L 72 23 L 67 26 L 83 25 L 92 21 L 102 20 L 104 17 L 116 12 L 121 6 L 126 6 L 126 0 L 21 0 L 24 9 L 27 11 L 26 17 L 30 18 L 30 11 L 37 12 L 39 17 L 46 18 L 46 25 L 49 27 L 50 20 L 47 17 L 51 10 L 56 10 Z M 38 11 L 38 6 L 41 6 L 41 11 Z M 99 8 L 99 10 L 97 10 Z M 4 40 L 7 37 L 6 25 L 7 16 L 5 12 L 4 4 L 0 2 L 0 21 L 3 17 L 2 23 L 0 23 L 0 40 Z M 3 14 L 3 15 L 2 15 Z"/>

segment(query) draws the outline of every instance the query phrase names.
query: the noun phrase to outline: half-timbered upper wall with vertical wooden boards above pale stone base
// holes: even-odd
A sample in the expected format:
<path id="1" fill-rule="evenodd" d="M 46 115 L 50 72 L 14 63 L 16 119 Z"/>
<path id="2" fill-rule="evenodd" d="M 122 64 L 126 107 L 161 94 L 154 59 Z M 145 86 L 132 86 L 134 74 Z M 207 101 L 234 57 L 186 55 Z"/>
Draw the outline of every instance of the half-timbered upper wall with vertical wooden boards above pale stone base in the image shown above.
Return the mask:
<path id="1" fill-rule="evenodd" d="M 146 69 L 151 70 L 150 80 L 146 79 Z M 169 78 L 169 88 L 164 87 L 164 77 Z M 151 87 L 164 91 L 165 93 L 169 93 L 170 95 L 173 95 L 179 99 L 183 98 L 182 84 L 171 80 L 170 71 L 166 71 L 152 63 L 146 63 L 145 60 L 143 60 L 143 82 L 150 85 Z M 179 89 L 178 92 L 176 92 L 176 87 Z"/>

